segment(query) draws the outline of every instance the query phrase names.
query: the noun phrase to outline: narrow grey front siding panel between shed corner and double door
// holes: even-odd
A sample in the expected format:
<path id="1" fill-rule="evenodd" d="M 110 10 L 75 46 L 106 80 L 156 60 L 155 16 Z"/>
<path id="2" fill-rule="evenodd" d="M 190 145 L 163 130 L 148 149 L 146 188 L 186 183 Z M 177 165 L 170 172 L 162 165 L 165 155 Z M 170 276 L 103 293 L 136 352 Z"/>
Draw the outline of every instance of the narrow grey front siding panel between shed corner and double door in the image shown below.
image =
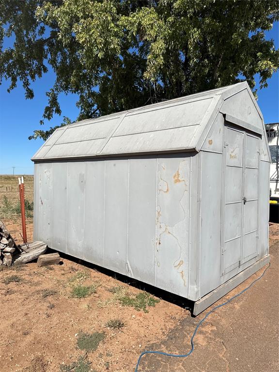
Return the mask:
<path id="1" fill-rule="evenodd" d="M 222 155 L 202 152 L 201 297 L 220 285 Z"/>

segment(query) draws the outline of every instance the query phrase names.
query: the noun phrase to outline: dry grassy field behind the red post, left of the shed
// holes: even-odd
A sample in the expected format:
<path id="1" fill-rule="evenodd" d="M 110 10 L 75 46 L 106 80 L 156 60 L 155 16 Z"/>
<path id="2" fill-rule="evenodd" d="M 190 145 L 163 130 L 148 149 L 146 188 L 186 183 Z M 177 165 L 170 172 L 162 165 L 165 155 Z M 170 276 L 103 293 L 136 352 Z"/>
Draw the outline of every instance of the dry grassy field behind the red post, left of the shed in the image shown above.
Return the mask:
<path id="1" fill-rule="evenodd" d="M 0 220 L 2 220 L 13 237 L 21 241 L 21 217 L 18 191 L 19 175 L 0 175 Z M 27 237 L 30 241 L 33 230 L 33 180 L 34 176 L 24 176 L 25 209 Z"/>

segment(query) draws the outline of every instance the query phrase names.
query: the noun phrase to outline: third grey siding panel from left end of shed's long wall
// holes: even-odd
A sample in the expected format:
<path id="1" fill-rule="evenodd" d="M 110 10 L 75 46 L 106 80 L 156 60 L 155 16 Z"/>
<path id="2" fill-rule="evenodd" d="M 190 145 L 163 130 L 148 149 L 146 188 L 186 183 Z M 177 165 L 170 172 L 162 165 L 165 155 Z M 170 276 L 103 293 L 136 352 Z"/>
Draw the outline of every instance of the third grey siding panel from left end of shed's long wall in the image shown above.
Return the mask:
<path id="1" fill-rule="evenodd" d="M 84 162 L 68 163 L 66 253 L 83 259 L 84 245 Z"/>

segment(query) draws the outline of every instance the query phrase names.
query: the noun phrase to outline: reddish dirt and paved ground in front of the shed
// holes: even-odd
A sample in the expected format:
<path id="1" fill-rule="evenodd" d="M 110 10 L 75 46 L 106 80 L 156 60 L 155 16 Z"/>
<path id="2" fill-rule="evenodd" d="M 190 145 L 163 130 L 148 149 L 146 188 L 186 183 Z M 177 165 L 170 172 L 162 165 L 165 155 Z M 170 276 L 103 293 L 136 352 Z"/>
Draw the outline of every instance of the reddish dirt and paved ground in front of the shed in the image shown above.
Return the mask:
<path id="1" fill-rule="evenodd" d="M 5 219 L 21 243 L 20 219 Z M 27 225 L 32 240 L 31 218 Z M 271 266 L 263 279 L 229 305 L 211 314 L 195 338 L 187 358 L 143 356 L 139 372 L 275 372 L 278 362 L 279 225 L 270 225 Z M 93 265 L 62 257 L 63 264 L 37 267 L 28 263 L 0 272 L 1 372 L 132 372 L 143 350 L 186 353 L 191 334 L 206 312 L 190 316 L 185 304 L 156 293 L 159 299 L 148 312 L 125 306 L 113 294 L 142 294 L 143 284 L 97 270 Z M 226 298 L 240 292 L 260 276 L 246 280 Z M 7 281 L 11 276 L 17 281 Z M 84 298 L 73 297 L 77 286 L 95 288 Z M 217 302 L 221 303 L 224 299 Z M 106 326 L 119 318 L 124 326 Z M 104 338 L 95 351 L 79 348 L 83 333 L 99 332 Z M 102 337 L 103 337 L 102 336 Z M 79 369 L 84 357 L 90 367 Z M 89 365 L 89 364 L 88 364 Z M 87 365 L 87 366 L 88 366 Z"/>

